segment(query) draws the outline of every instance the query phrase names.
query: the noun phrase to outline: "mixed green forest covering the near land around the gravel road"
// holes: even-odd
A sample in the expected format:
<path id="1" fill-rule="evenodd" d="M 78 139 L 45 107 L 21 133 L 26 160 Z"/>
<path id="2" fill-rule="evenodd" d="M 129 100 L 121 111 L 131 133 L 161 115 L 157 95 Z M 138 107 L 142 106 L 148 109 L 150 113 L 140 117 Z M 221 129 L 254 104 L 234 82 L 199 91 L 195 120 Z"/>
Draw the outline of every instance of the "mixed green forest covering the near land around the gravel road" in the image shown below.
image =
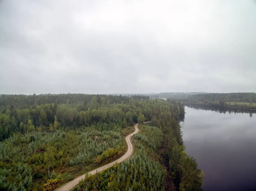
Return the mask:
<path id="1" fill-rule="evenodd" d="M 138 95 L 34 94 L 2 95 L 0 108 L 0 190 L 54 190 L 122 156 L 126 151 L 122 132 L 150 120 L 154 127 L 140 125 L 141 133 L 134 137 L 134 157 L 112 169 L 130 180 L 120 188 L 163 190 L 164 184 L 166 188 L 171 184 L 177 190 L 201 189 L 201 171 L 186 155 L 175 120 L 184 113 L 181 103 Z M 151 158 L 159 150 L 160 157 Z M 140 160 L 146 162 L 141 169 L 148 172 L 146 177 L 135 175 L 141 173 Z M 126 173 L 126 168 L 132 170 Z M 108 182 L 120 182 L 120 177 L 110 174 L 104 174 Z M 106 180 L 95 186 L 108 189 Z M 86 183 L 79 186 L 85 188 Z"/>

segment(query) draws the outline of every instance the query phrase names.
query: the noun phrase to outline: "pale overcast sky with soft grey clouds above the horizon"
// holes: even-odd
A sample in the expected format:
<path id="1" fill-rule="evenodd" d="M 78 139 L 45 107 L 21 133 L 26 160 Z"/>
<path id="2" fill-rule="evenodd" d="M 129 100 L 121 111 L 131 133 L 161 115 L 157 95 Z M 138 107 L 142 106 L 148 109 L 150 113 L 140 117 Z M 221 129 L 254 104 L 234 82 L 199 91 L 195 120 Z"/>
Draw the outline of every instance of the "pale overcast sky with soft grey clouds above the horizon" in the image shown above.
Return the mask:
<path id="1" fill-rule="evenodd" d="M 256 0 L 2 0 L 0 94 L 256 92 Z"/>

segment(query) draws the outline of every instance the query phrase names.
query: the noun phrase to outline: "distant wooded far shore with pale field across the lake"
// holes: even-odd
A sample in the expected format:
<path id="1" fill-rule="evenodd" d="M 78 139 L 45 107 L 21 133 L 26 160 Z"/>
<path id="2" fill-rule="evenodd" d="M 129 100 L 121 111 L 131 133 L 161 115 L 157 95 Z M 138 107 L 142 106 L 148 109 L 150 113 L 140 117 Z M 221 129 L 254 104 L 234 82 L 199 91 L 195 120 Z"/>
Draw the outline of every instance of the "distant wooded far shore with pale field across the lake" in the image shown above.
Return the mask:
<path id="1" fill-rule="evenodd" d="M 187 97 L 172 97 L 169 100 L 186 103 L 203 103 L 220 108 L 256 109 L 256 93 L 204 93 L 189 95 Z"/>

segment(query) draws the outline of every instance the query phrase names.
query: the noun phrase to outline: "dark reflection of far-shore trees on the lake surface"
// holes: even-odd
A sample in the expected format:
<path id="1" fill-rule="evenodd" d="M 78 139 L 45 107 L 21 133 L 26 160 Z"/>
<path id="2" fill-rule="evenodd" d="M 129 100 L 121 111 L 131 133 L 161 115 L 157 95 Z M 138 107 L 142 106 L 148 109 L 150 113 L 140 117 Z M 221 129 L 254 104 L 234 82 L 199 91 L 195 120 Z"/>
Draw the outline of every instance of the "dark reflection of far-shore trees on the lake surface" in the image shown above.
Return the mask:
<path id="1" fill-rule="evenodd" d="M 250 111 L 250 110 L 245 110 L 245 109 L 237 109 L 237 108 L 219 108 L 217 106 L 211 106 L 211 105 L 203 105 L 203 104 L 197 104 L 197 103 L 184 103 L 185 106 L 189 108 L 194 108 L 194 109 L 202 109 L 202 110 L 207 110 L 207 111 L 215 111 L 218 113 L 246 113 L 249 114 L 250 117 L 253 116 L 253 114 L 256 114 L 256 111 Z M 185 111 L 186 112 L 186 111 Z"/>

